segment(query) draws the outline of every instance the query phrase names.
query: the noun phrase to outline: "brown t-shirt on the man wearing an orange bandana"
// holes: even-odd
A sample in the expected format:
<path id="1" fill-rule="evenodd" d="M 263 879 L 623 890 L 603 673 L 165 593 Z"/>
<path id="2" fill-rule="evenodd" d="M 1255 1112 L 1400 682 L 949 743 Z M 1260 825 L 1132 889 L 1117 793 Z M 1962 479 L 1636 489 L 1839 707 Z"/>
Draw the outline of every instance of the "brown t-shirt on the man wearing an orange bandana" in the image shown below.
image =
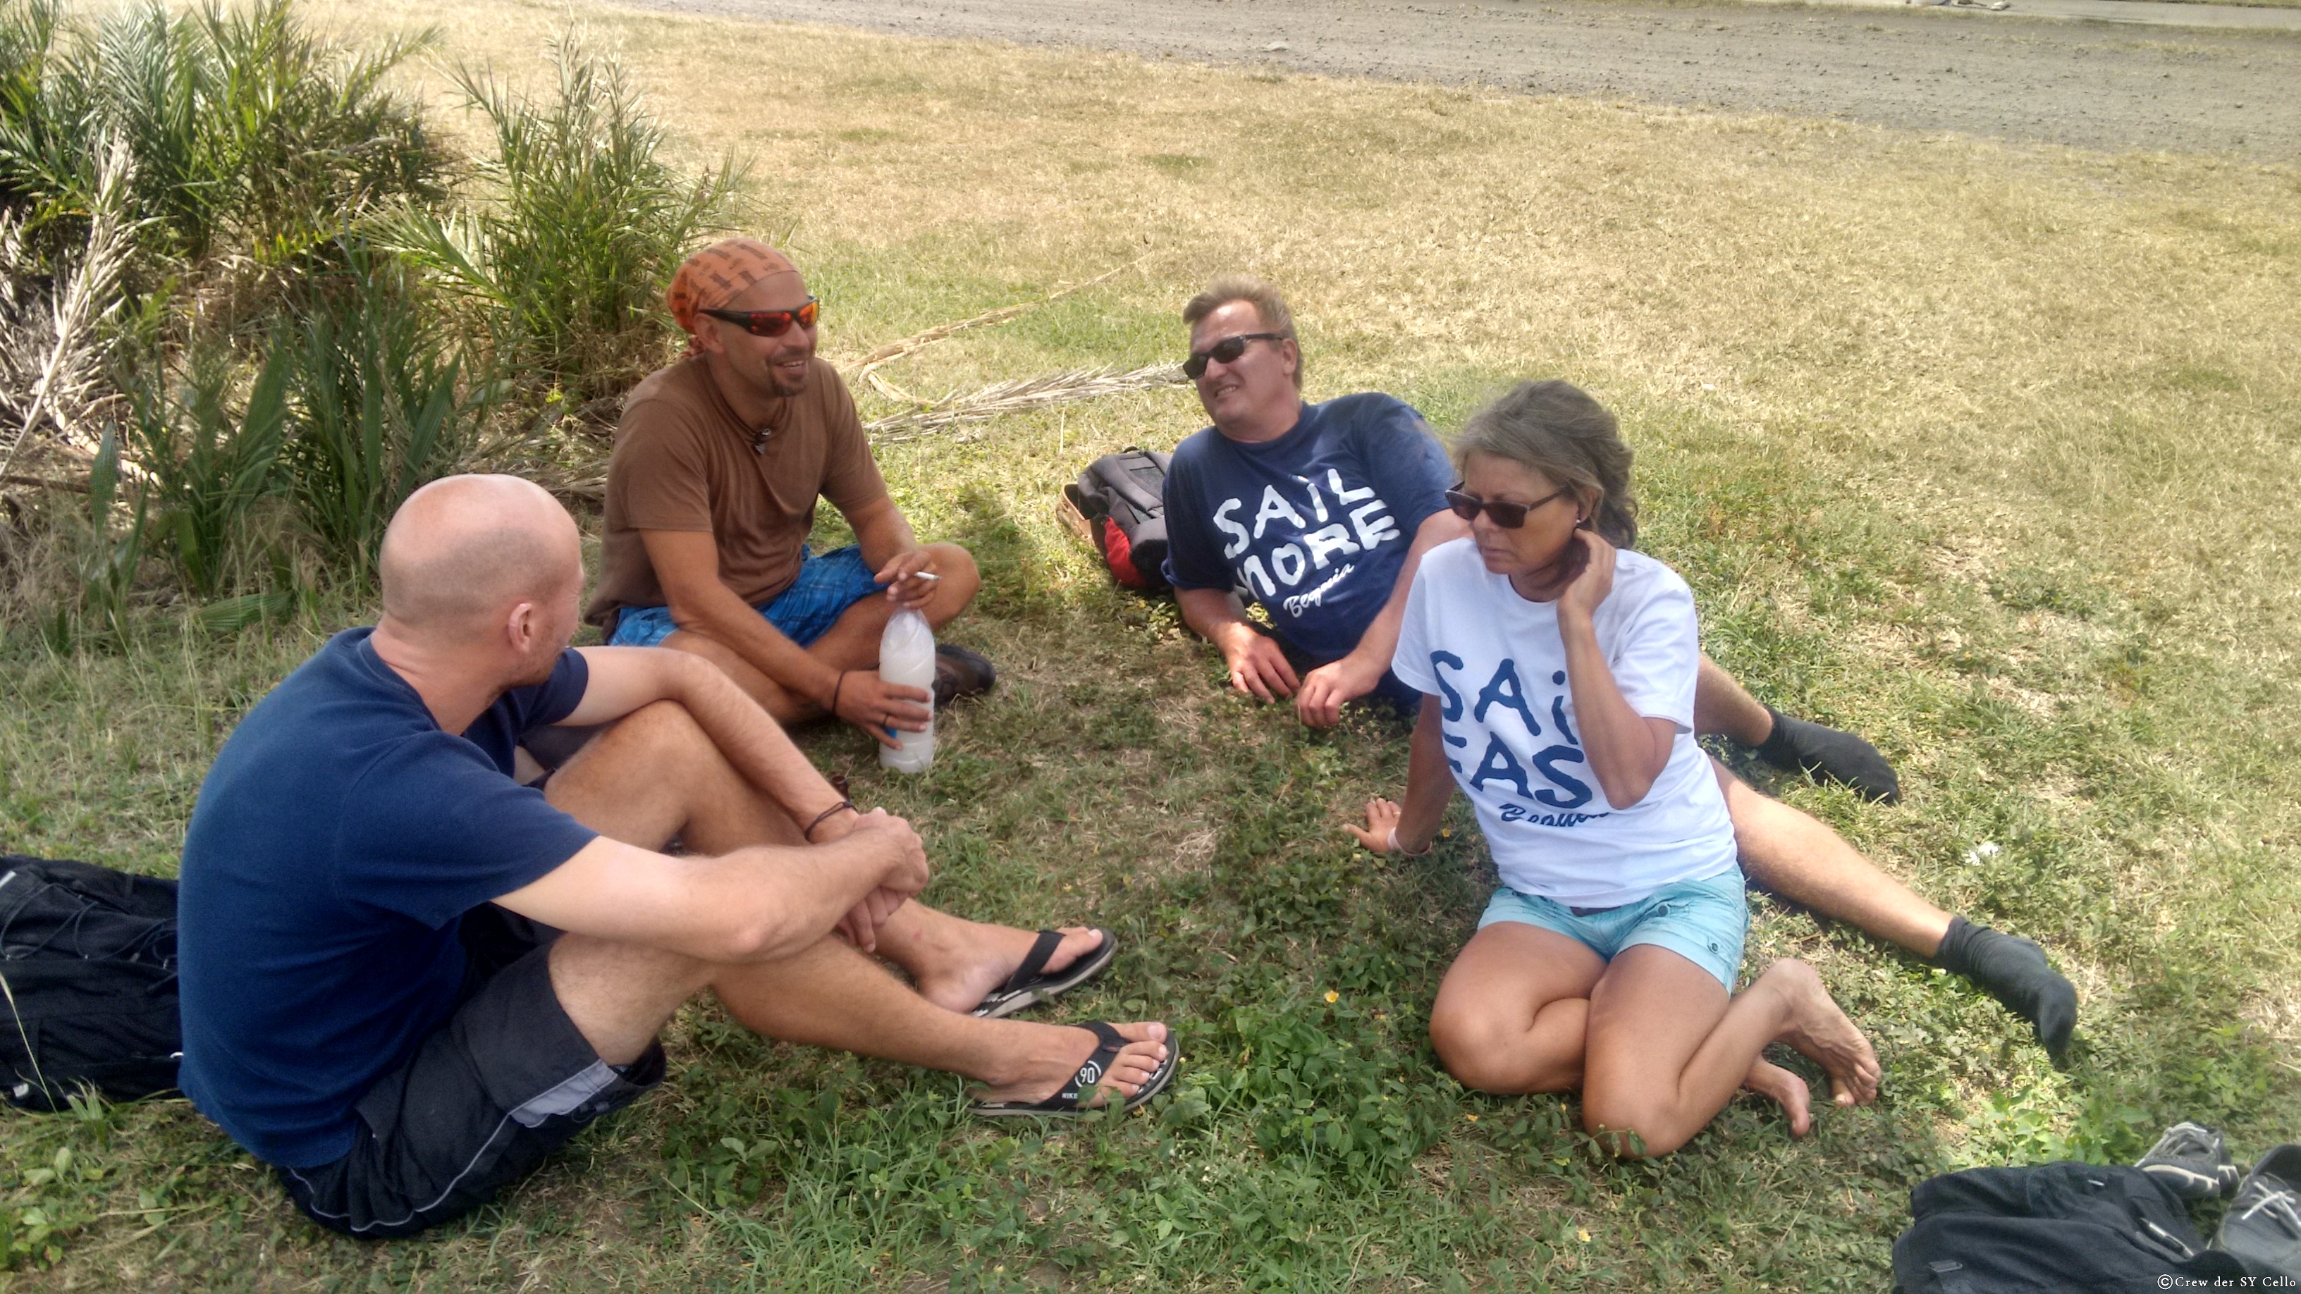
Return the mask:
<path id="1" fill-rule="evenodd" d="M 805 391 L 775 401 L 764 431 L 762 442 L 727 408 L 700 355 L 633 387 L 607 460 L 594 624 L 605 631 L 617 608 L 665 606 L 642 530 L 711 534 L 720 583 L 759 606 L 798 578 L 817 497 L 851 513 L 886 495 L 854 396 L 824 359 L 808 366 Z"/>

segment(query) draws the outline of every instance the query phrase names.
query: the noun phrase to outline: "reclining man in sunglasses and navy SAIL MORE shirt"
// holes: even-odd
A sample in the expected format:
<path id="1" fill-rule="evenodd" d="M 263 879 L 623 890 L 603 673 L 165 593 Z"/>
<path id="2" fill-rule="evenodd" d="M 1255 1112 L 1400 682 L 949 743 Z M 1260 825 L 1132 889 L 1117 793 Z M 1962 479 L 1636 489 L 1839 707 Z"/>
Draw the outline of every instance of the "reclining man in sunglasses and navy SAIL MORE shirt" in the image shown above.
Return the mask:
<path id="1" fill-rule="evenodd" d="M 1213 421 L 1176 447 L 1167 474 L 1167 580 L 1183 619 L 1222 652 L 1231 688 L 1291 698 L 1307 725 L 1330 728 L 1346 702 L 1369 695 L 1413 709 L 1420 693 L 1390 672 L 1406 594 L 1424 553 L 1470 534 L 1443 497 L 1445 449 L 1392 396 L 1305 403 L 1302 345 L 1270 283 L 1215 279 L 1183 306 L 1183 371 Z M 1268 631 L 1245 599 L 1270 617 Z M 1866 799 L 1901 794 L 1875 746 L 1760 705 L 1707 654 L 1694 728 Z M 1942 912 L 1822 822 L 1723 764 L 1714 771 L 1751 880 L 1974 979 L 2062 1055 L 2078 999 L 2034 942 Z"/>

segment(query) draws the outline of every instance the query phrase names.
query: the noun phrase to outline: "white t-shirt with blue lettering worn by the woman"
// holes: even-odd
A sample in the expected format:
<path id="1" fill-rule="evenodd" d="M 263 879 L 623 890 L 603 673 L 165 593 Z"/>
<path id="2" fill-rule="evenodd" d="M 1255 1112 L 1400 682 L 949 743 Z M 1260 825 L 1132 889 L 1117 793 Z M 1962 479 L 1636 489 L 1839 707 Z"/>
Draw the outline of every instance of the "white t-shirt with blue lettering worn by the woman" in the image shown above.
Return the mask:
<path id="1" fill-rule="evenodd" d="M 1694 744 L 1694 592 L 1677 571 L 1625 550 L 1592 619 L 1622 700 L 1677 725 L 1671 762 L 1629 808 L 1606 804 L 1583 758 L 1558 606 L 1519 596 L 1468 539 L 1422 557 L 1392 668 L 1440 707 L 1447 767 L 1477 808 L 1503 884 L 1618 907 L 1723 873 L 1735 843 L 1710 758 Z"/>

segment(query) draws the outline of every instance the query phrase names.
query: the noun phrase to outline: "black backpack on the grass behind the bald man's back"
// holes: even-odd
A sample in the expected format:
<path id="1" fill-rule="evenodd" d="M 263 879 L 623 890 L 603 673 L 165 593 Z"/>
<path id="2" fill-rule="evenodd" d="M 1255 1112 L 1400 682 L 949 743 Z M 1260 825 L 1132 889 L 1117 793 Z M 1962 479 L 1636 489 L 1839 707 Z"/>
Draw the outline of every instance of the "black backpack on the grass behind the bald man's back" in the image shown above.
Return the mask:
<path id="1" fill-rule="evenodd" d="M 175 882 L 0 854 L 0 1096 L 62 1110 L 81 1087 L 175 1087 Z"/>

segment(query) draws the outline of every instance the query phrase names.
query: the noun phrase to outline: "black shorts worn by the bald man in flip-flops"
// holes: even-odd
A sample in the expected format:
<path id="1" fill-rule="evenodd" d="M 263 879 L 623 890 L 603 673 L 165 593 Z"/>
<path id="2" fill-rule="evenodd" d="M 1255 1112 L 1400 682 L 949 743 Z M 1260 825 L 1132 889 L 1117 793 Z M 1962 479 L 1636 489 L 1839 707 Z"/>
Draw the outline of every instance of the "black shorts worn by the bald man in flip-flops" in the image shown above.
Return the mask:
<path id="1" fill-rule="evenodd" d="M 278 1170 L 304 1216 L 359 1239 L 435 1227 L 663 1082 L 660 1045 L 610 1066 L 568 1020 L 552 992 L 555 937 L 495 905 L 465 914 L 463 1006 L 359 1098 L 347 1156 Z"/>

